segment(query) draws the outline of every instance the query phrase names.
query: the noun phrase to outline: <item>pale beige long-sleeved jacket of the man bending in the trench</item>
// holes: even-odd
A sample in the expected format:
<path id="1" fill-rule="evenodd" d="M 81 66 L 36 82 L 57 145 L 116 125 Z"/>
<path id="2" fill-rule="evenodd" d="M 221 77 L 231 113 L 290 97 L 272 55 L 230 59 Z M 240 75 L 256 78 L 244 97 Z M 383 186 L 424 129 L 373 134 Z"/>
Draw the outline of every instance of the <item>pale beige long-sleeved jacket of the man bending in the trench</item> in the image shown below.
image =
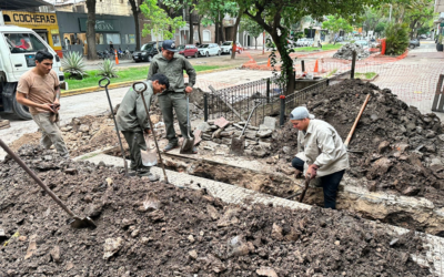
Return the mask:
<path id="1" fill-rule="evenodd" d="M 304 171 L 313 163 L 317 165 L 320 177 L 350 167 L 341 136 L 332 125 L 321 120 L 310 120 L 306 132 L 299 131 L 296 157 L 305 162 Z"/>

